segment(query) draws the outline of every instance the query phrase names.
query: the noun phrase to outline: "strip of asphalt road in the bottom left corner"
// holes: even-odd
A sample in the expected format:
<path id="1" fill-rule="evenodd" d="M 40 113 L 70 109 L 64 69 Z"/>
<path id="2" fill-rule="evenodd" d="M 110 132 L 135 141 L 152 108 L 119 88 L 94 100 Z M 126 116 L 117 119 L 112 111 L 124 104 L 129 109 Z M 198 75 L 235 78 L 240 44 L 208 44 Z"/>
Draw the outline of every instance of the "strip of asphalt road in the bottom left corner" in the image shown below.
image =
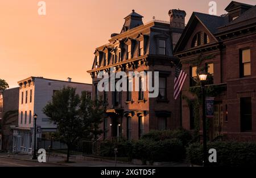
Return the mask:
<path id="1" fill-rule="evenodd" d="M 0 167 L 52 167 L 56 164 L 36 163 L 26 160 L 0 158 Z"/>

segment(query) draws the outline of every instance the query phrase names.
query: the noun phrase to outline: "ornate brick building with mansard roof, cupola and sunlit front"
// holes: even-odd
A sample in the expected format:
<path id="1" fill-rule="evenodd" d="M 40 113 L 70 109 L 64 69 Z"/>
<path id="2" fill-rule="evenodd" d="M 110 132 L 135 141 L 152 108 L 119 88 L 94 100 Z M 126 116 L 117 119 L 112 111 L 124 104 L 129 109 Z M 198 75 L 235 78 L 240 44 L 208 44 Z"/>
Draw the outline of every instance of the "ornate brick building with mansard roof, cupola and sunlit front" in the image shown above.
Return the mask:
<path id="1" fill-rule="evenodd" d="M 185 27 L 185 11 L 170 10 L 170 22 L 152 20 L 143 24 L 143 16 L 133 10 L 126 16 L 121 33 L 114 33 L 108 44 L 96 49 L 92 70 L 93 99 L 102 96 L 108 101 L 102 138 L 124 137 L 138 139 L 150 130 L 180 127 L 180 101 L 174 100 L 173 49 Z M 129 71 L 159 72 L 159 96 L 148 98 L 149 91 L 99 92 L 97 84 L 100 71 L 110 73 Z M 147 78 L 147 77 L 146 77 Z M 133 83 L 127 80 L 127 86 Z"/>

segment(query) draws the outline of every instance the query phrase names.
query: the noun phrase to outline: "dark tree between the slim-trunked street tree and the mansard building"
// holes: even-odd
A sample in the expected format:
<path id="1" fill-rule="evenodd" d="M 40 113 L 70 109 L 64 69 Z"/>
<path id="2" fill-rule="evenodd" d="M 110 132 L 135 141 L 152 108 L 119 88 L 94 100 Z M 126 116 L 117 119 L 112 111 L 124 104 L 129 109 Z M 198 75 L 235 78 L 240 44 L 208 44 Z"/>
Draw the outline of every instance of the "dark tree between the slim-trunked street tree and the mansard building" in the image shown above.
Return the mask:
<path id="1" fill-rule="evenodd" d="M 102 100 L 92 100 L 87 92 L 82 92 L 80 114 L 84 122 L 84 138 L 97 140 L 103 133 L 100 124 L 103 122 L 106 110 L 106 102 Z"/>

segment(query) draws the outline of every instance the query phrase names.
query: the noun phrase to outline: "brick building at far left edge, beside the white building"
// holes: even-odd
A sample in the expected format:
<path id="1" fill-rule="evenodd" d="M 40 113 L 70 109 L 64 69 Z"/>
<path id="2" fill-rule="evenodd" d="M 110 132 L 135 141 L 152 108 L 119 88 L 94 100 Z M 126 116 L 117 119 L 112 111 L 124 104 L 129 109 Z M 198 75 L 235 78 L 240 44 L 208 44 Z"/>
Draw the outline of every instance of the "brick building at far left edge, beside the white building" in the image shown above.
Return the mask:
<path id="1" fill-rule="evenodd" d="M 10 126 L 18 124 L 19 88 L 11 88 L 0 94 L 0 120 L 2 122 L 2 150 L 10 150 L 13 133 Z"/>

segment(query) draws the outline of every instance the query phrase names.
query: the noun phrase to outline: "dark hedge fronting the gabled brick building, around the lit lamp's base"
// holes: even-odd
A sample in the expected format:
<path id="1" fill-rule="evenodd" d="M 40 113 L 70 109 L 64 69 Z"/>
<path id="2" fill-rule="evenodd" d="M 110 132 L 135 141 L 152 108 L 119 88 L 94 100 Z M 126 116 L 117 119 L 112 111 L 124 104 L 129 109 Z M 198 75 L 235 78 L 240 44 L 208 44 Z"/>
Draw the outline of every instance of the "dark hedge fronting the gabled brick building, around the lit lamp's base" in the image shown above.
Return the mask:
<path id="1" fill-rule="evenodd" d="M 217 163 L 210 163 L 212 167 L 255 167 L 256 143 L 250 142 L 212 142 L 208 149 L 217 150 Z M 187 159 L 192 164 L 201 165 L 203 160 L 203 146 L 193 143 L 187 148 Z"/>

